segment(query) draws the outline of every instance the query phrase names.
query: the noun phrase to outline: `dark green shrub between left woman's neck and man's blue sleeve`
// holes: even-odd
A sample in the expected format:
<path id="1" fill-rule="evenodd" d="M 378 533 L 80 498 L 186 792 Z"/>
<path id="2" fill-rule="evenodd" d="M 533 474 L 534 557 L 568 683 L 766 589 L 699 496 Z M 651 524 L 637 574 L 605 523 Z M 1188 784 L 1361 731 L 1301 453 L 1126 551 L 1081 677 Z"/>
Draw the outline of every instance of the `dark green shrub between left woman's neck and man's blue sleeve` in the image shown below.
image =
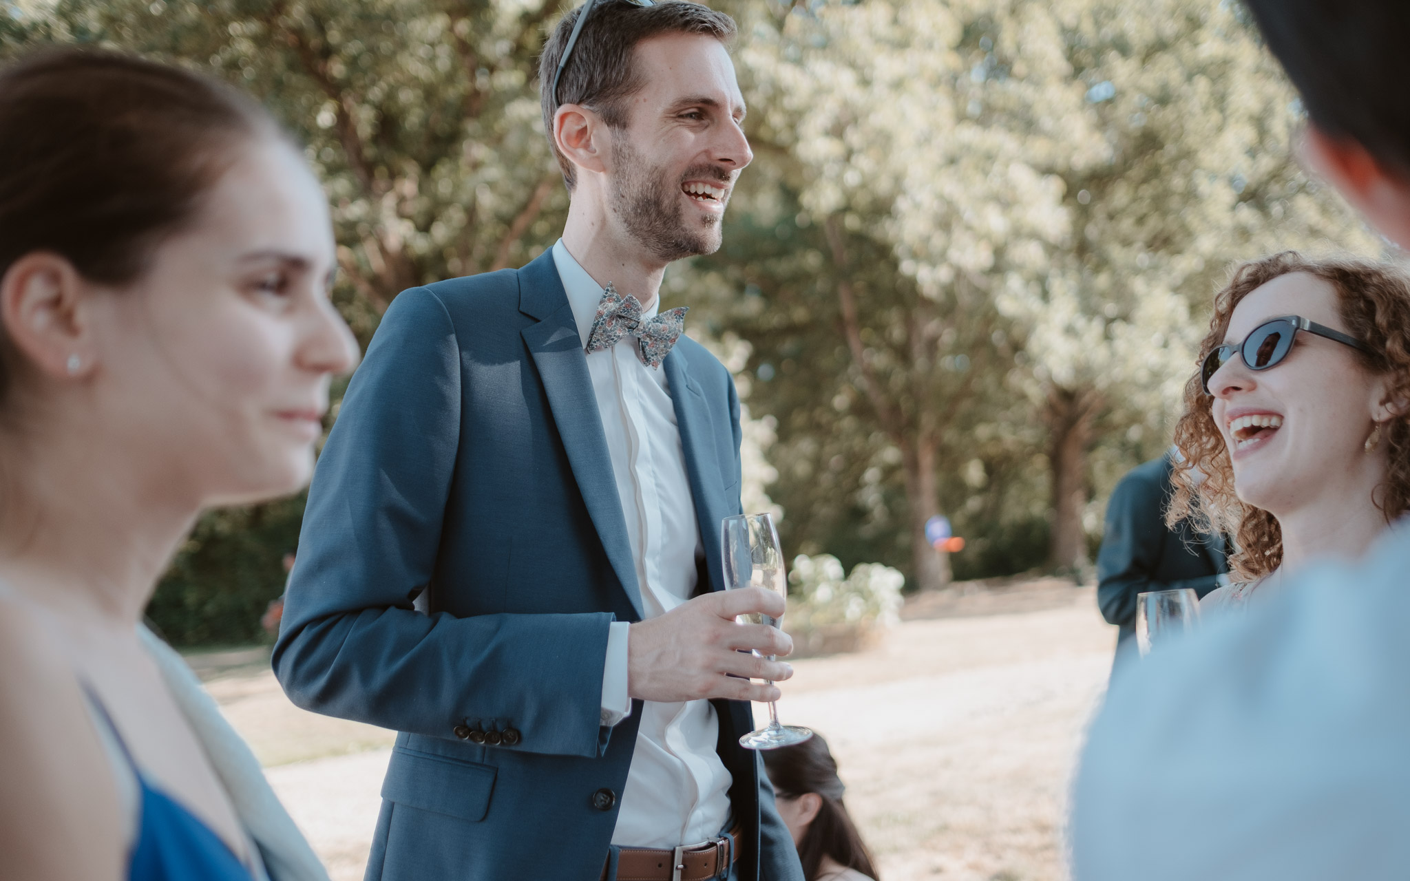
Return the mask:
<path id="1" fill-rule="evenodd" d="M 207 513 L 157 586 L 147 617 L 173 646 L 257 643 L 283 593 L 282 558 L 299 541 L 305 496 Z"/>

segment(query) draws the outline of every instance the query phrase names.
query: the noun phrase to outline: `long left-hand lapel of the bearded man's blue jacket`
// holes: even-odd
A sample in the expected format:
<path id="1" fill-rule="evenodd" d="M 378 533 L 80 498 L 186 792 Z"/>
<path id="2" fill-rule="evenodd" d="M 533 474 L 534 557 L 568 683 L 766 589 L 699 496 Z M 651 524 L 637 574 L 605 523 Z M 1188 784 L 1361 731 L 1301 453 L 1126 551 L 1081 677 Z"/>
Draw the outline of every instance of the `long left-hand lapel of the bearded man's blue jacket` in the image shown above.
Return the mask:
<path id="1" fill-rule="evenodd" d="M 636 582 L 636 564 L 632 561 L 632 544 L 612 474 L 606 434 L 602 431 L 602 416 L 592 392 L 582 338 L 551 251 L 519 271 L 519 310 L 540 319 L 537 324 L 520 331 L 520 335 L 539 368 L 548 409 L 553 410 L 553 421 L 568 452 L 568 464 L 588 506 L 588 516 L 598 530 L 612 571 L 632 600 L 637 619 L 642 619 L 646 616 L 642 591 Z"/>

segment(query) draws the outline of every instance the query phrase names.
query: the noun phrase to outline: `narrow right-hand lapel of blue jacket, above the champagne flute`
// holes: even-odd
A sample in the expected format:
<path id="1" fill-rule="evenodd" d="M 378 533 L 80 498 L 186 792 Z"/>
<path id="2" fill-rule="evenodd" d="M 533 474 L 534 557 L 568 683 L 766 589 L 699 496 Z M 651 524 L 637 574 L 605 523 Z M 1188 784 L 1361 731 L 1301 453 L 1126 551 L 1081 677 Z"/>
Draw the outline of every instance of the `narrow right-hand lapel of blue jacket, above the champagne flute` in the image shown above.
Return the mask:
<path id="1" fill-rule="evenodd" d="M 725 498 L 725 481 L 719 472 L 719 460 L 713 452 L 713 433 L 718 429 L 711 419 L 705 392 L 689 375 L 685 357 L 673 348 L 671 354 L 661 362 L 661 369 L 666 371 L 666 381 L 671 386 L 671 406 L 675 410 L 675 426 L 681 433 L 685 474 L 691 481 L 695 519 L 701 527 L 701 544 L 705 546 L 705 565 L 709 569 L 711 589 L 722 591 L 725 572 L 721 560 L 719 522 L 735 510 Z"/>

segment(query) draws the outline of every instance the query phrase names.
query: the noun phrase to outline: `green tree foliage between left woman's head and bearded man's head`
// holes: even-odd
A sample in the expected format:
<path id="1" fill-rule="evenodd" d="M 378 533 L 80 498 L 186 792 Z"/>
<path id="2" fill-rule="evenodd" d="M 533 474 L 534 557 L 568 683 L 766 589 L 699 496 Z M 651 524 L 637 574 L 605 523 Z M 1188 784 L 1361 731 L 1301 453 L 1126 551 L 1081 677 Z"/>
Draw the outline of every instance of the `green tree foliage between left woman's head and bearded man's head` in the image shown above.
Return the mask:
<path id="1" fill-rule="evenodd" d="M 56 0 L 0 54 L 103 45 L 250 90 L 307 145 L 333 206 L 338 302 L 367 340 L 413 285 L 526 262 L 567 192 L 539 114 L 558 0 Z"/>

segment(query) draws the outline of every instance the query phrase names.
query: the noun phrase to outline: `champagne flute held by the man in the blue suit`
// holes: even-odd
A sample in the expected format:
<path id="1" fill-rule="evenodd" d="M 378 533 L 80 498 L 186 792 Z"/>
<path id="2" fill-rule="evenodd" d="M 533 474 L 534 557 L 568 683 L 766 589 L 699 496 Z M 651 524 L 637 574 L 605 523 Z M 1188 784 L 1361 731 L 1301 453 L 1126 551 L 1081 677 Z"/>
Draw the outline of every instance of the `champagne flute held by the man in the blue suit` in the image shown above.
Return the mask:
<path id="1" fill-rule="evenodd" d="M 788 596 L 788 582 L 784 578 L 784 551 L 778 544 L 774 519 L 768 515 L 736 515 L 725 517 L 721 524 L 721 543 L 725 553 L 725 588 L 764 588 L 778 596 Z M 750 624 L 778 627 L 783 617 L 752 613 L 740 615 Z M 754 653 L 756 657 L 764 657 Z M 768 655 L 773 661 L 774 655 Z M 773 685 L 773 681 L 768 682 Z M 797 725 L 778 725 L 778 706 L 768 702 L 768 725 L 739 739 L 746 750 L 774 750 L 802 743 L 812 732 Z"/>

